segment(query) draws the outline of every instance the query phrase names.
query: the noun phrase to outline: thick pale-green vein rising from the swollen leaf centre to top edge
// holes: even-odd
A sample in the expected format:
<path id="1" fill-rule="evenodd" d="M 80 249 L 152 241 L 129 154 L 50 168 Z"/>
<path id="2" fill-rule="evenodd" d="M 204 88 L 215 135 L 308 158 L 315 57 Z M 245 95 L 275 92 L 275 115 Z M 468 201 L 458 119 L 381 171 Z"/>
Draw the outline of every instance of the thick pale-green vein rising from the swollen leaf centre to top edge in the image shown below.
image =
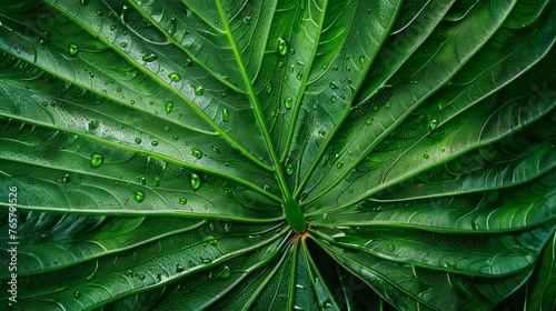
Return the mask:
<path id="1" fill-rule="evenodd" d="M 234 51 L 234 56 L 236 57 L 236 60 L 238 62 L 239 71 L 241 72 L 241 77 L 244 78 L 244 83 L 246 84 L 247 88 L 247 94 L 249 97 L 249 100 L 251 102 L 251 106 L 255 110 L 255 116 L 257 118 L 257 122 L 259 123 L 260 131 L 262 132 L 262 137 L 265 138 L 266 146 L 268 148 L 268 152 L 270 154 L 270 158 L 272 160 L 272 164 L 275 168 L 275 173 L 278 178 L 278 183 L 280 184 L 280 189 L 284 195 L 284 201 L 281 202 L 281 205 L 284 208 L 284 211 L 286 213 L 286 219 L 290 225 L 290 228 L 298 232 L 301 233 L 305 231 L 306 228 L 306 222 L 305 222 L 305 215 L 301 211 L 301 207 L 297 200 L 294 199 L 291 195 L 291 192 L 288 188 L 288 183 L 286 182 L 286 178 L 284 175 L 284 170 L 281 169 L 280 161 L 278 160 L 278 157 L 276 154 L 275 147 L 272 144 L 272 140 L 270 138 L 270 132 L 268 131 L 267 123 L 265 121 L 265 116 L 262 113 L 262 110 L 259 104 L 259 100 L 257 98 L 257 94 L 255 92 L 254 86 L 251 80 L 249 79 L 249 74 L 247 73 L 246 67 L 244 64 L 244 61 L 241 59 L 241 54 L 239 53 L 239 50 L 236 46 L 236 41 L 234 40 L 234 37 L 231 36 L 231 29 L 230 24 L 228 22 L 228 18 L 226 17 L 226 12 L 224 11 L 222 2 L 221 0 L 216 0 L 218 11 L 220 13 L 220 18 L 222 19 L 222 24 L 226 28 L 226 34 L 228 37 L 228 41 L 230 42 L 231 49 Z"/>

